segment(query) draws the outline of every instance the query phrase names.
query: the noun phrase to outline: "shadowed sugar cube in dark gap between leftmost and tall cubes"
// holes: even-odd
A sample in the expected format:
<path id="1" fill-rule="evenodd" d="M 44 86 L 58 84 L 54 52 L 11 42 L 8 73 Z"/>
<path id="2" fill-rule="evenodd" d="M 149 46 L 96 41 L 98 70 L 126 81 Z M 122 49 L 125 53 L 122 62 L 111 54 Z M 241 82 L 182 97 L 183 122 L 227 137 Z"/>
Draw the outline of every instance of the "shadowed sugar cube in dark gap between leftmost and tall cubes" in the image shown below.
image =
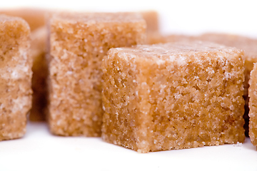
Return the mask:
<path id="1" fill-rule="evenodd" d="M 29 120 L 45 120 L 47 97 L 47 65 L 46 65 L 46 26 L 37 28 L 31 33 L 31 57 L 33 59 L 32 76 L 32 108 Z"/>

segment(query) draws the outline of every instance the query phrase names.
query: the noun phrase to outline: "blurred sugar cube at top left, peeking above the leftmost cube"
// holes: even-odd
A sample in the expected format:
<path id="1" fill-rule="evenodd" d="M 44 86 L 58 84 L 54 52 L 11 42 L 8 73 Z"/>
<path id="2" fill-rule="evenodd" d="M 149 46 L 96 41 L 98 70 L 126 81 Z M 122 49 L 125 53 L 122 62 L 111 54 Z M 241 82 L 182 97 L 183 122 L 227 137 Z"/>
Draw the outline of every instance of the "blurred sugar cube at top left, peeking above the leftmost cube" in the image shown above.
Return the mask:
<path id="1" fill-rule="evenodd" d="M 30 26 L 31 31 L 36 28 L 45 25 L 45 14 L 44 9 L 29 9 L 29 8 L 19 8 L 19 9 L 0 9 L 0 14 L 6 14 L 9 16 L 19 16 L 24 19 Z"/>

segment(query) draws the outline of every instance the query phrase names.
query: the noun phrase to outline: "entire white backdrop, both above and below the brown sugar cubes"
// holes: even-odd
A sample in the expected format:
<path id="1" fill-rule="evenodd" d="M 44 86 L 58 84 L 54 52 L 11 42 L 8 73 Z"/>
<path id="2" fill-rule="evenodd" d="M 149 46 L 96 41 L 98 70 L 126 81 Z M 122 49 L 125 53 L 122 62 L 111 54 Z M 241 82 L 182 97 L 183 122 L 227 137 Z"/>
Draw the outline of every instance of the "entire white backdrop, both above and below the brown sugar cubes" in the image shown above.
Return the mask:
<path id="1" fill-rule="evenodd" d="M 160 14 L 162 33 L 239 33 L 257 38 L 257 1 L 6 1 L 0 8 L 41 7 L 79 11 L 141 11 Z M 257 151 L 221 145 L 138 154 L 101 138 L 51 135 L 46 123 L 29 123 L 24 138 L 0 142 L 0 171 L 9 170 L 257 170 Z"/>

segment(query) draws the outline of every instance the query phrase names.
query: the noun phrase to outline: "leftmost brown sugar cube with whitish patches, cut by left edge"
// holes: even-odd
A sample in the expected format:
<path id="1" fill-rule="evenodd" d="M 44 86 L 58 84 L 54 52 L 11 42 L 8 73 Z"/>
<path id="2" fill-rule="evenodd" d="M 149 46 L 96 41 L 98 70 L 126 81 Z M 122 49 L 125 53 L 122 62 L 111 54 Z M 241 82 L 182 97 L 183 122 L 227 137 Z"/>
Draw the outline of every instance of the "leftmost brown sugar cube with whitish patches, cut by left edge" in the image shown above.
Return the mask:
<path id="1" fill-rule="evenodd" d="M 0 140 L 26 132 L 32 94 L 29 36 L 24 19 L 0 15 Z"/>

